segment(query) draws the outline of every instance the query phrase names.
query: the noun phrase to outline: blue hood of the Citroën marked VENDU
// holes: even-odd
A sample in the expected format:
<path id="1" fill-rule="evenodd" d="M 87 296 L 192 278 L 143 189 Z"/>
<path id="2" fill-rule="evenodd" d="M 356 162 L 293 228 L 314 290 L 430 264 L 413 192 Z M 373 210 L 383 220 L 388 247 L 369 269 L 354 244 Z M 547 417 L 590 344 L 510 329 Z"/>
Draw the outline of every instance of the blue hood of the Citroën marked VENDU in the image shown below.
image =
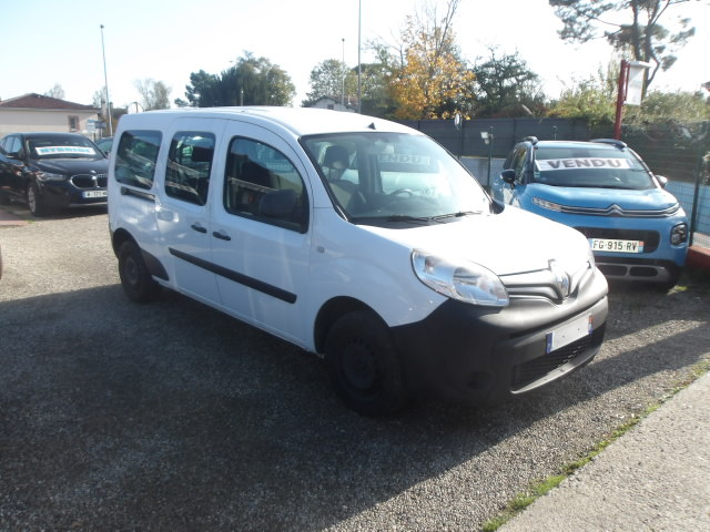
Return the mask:
<path id="1" fill-rule="evenodd" d="M 662 188 L 581 188 L 532 183 L 528 185 L 528 193 L 548 202 L 574 207 L 605 209 L 617 205 L 623 211 L 663 211 L 678 205 L 678 200 Z"/>

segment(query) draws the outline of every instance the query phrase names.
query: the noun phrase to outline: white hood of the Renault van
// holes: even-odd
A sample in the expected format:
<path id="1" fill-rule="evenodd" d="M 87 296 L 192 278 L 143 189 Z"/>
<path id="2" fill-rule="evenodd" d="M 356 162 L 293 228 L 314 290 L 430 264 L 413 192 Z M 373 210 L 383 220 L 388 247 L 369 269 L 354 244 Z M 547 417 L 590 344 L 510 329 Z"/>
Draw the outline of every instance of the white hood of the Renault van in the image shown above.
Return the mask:
<path id="1" fill-rule="evenodd" d="M 498 276 L 548 269 L 552 259 L 572 274 L 591 256 L 577 229 L 510 206 L 499 214 L 405 229 L 361 227 L 412 249 L 471 260 Z"/>

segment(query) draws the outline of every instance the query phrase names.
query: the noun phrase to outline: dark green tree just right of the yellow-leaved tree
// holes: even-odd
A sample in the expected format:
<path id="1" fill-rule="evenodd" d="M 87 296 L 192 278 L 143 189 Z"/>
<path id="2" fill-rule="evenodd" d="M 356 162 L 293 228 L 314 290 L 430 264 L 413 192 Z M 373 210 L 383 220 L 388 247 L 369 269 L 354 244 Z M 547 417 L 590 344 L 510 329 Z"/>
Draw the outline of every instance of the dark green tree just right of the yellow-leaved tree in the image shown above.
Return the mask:
<path id="1" fill-rule="evenodd" d="M 518 52 L 490 58 L 476 66 L 476 109 L 478 117 L 506 117 L 545 113 L 545 94 L 539 76 L 528 69 Z"/>

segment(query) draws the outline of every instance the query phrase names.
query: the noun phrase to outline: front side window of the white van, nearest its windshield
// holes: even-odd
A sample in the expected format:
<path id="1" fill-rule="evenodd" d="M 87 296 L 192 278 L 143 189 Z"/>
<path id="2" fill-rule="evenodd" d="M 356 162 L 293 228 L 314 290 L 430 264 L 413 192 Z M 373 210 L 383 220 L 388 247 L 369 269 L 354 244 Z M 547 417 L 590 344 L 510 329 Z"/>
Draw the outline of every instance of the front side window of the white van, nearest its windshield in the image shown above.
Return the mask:
<path id="1" fill-rule="evenodd" d="M 248 139 L 230 143 L 224 176 L 227 213 L 305 232 L 307 200 L 301 174 L 278 150 Z"/>

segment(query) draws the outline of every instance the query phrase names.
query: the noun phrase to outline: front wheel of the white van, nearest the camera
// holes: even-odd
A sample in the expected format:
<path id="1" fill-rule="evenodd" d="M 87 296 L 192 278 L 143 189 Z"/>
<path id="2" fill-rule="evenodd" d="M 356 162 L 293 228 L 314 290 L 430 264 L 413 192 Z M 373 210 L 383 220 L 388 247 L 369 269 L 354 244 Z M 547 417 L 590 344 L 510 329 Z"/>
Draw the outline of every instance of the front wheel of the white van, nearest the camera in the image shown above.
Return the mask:
<path id="1" fill-rule="evenodd" d="M 338 397 L 363 416 L 387 416 L 407 402 L 397 350 L 385 324 L 372 313 L 357 310 L 335 321 L 325 364 Z"/>

